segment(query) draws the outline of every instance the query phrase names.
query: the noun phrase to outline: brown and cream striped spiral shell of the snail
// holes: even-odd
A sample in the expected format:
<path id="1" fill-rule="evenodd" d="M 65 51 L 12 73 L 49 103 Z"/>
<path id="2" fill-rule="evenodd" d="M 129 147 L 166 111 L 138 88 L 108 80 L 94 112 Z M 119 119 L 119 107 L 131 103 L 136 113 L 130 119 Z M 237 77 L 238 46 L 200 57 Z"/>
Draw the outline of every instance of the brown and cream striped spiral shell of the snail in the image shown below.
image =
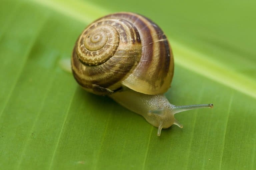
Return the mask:
<path id="1" fill-rule="evenodd" d="M 122 86 L 145 94 L 164 93 L 174 67 L 163 31 L 148 18 L 129 12 L 90 24 L 76 42 L 71 63 L 77 82 L 100 95 Z"/>

